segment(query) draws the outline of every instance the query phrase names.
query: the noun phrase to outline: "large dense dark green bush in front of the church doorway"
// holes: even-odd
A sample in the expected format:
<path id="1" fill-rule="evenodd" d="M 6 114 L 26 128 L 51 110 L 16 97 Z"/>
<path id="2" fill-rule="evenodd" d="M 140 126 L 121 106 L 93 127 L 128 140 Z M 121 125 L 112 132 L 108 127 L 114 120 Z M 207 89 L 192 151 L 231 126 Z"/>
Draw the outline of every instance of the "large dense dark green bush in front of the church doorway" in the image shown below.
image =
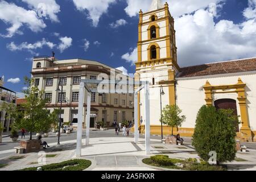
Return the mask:
<path id="1" fill-rule="evenodd" d="M 233 110 L 217 110 L 202 106 L 197 113 L 192 146 L 200 158 L 209 160 L 209 152 L 217 153 L 217 163 L 232 161 L 236 157 L 236 128 L 238 117 Z"/>

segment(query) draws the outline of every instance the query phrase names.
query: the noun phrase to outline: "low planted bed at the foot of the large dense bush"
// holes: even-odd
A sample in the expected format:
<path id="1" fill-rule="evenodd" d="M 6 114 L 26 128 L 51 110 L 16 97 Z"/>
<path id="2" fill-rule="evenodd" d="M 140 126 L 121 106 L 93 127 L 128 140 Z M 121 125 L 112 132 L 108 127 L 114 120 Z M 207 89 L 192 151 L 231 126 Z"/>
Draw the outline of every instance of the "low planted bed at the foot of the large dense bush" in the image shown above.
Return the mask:
<path id="1" fill-rule="evenodd" d="M 209 165 L 207 162 L 197 162 L 197 159 L 170 159 L 168 155 L 155 155 L 142 160 L 150 166 L 183 169 L 189 171 L 226 171 L 226 166 Z"/>

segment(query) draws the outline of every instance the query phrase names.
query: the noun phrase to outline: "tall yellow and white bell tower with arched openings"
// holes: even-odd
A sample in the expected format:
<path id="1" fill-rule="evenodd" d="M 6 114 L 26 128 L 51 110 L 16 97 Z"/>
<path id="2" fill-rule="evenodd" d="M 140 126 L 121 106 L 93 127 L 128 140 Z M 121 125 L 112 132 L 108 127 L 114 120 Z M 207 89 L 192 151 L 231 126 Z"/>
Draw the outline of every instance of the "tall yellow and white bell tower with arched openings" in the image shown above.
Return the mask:
<path id="1" fill-rule="evenodd" d="M 168 3 L 152 0 L 146 13 L 139 11 L 137 46 L 135 79 L 150 82 L 150 111 L 154 113 L 150 115 L 150 121 L 153 122 L 151 125 L 159 125 L 160 88 L 165 93 L 162 96 L 163 107 L 175 105 L 175 75 L 180 69 L 177 64 L 174 18 Z M 141 117 L 143 113 L 139 113 L 138 118 Z"/>

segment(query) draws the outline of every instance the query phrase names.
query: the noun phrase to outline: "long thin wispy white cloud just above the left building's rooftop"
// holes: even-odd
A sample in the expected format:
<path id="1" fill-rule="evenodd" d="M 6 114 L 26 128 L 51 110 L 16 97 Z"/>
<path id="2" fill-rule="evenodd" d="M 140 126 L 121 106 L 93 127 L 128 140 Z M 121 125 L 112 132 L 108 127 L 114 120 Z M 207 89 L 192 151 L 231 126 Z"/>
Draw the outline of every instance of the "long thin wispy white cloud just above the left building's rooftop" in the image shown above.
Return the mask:
<path id="1" fill-rule="evenodd" d="M 10 44 L 7 44 L 7 48 L 10 49 L 11 51 L 22 51 L 23 49 L 26 50 L 33 50 L 33 49 L 38 49 L 42 48 L 43 46 L 48 46 L 49 48 L 53 48 L 56 45 L 53 44 L 52 42 L 48 42 L 46 39 L 42 39 L 41 41 L 38 41 L 34 44 L 23 42 L 20 45 L 16 45 L 14 42 L 11 42 Z"/>

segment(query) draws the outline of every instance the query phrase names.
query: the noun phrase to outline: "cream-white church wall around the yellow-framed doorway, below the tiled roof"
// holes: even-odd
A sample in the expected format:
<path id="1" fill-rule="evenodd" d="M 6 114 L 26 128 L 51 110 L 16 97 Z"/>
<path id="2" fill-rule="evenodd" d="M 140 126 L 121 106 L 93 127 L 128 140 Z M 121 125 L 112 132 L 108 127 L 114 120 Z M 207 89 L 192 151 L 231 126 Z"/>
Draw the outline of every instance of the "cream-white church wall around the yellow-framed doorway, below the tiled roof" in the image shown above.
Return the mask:
<path id="1" fill-rule="evenodd" d="M 200 107 L 205 105 L 205 92 L 203 85 L 208 80 L 211 85 L 230 85 L 237 84 L 238 78 L 246 84 L 247 110 L 251 130 L 256 130 L 256 75 L 241 76 L 219 76 L 212 78 L 197 78 L 193 80 L 177 80 L 176 103 L 183 110 L 187 121 L 182 127 L 195 127 L 196 114 Z M 240 107 L 237 100 L 237 93 L 214 94 L 214 101 L 221 98 L 230 98 L 237 101 L 237 112 L 240 115 Z M 240 125 L 241 126 L 241 125 Z"/>

